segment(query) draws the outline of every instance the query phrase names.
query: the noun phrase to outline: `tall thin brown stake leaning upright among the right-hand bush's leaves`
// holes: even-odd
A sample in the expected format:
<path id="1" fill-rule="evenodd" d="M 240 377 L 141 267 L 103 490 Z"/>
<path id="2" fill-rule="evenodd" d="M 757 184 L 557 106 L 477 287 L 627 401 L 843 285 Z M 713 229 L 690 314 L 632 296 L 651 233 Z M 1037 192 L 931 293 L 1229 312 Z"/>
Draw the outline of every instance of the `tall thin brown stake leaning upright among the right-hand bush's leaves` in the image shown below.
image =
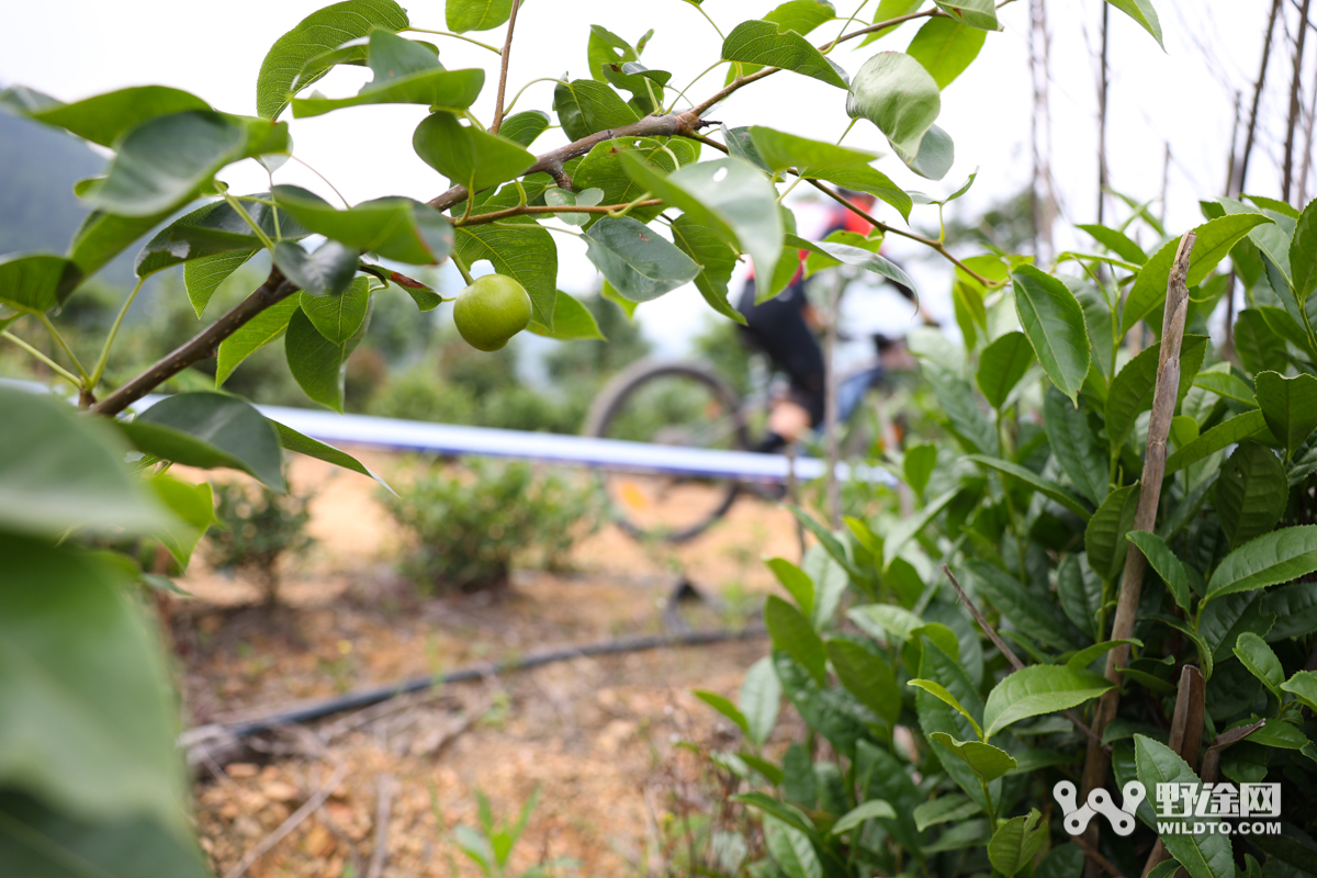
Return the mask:
<path id="1" fill-rule="evenodd" d="M 1158 362 L 1156 384 L 1152 390 L 1152 416 L 1148 420 L 1147 452 L 1143 457 L 1143 479 L 1139 484 L 1139 504 L 1134 512 L 1134 530 L 1152 530 L 1156 523 L 1158 503 L 1162 499 L 1162 477 L 1166 474 L 1166 442 L 1171 433 L 1171 419 L 1175 416 L 1176 396 L 1180 391 L 1180 348 L 1184 342 L 1184 323 L 1188 316 L 1189 290 L 1185 276 L 1189 274 L 1189 254 L 1193 251 L 1196 236 L 1185 232 L 1175 253 L 1175 265 L 1167 282 L 1166 323 L 1162 333 L 1162 354 Z M 1129 640 L 1134 634 L 1134 619 L 1138 615 L 1139 596 L 1143 590 L 1143 573 L 1147 558 L 1138 546 L 1130 546 L 1125 555 L 1125 573 L 1121 577 L 1121 592 L 1115 604 L 1115 619 L 1112 623 L 1110 640 Z M 1101 737 L 1106 725 L 1115 717 L 1121 706 L 1121 669 L 1130 661 L 1130 646 L 1122 644 L 1106 654 L 1106 679 L 1117 683 L 1097 703 L 1093 713 L 1093 732 Z M 1110 753 L 1089 741 L 1084 760 L 1084 790 L 1089 791 L 1102 785 L 1112 767 Z M 1098 821 L 1088 825 L 1085 839 L 1097 849 Z M 1089 858 L 1084 874 L 1093 878 L 1098 865 Z"/>

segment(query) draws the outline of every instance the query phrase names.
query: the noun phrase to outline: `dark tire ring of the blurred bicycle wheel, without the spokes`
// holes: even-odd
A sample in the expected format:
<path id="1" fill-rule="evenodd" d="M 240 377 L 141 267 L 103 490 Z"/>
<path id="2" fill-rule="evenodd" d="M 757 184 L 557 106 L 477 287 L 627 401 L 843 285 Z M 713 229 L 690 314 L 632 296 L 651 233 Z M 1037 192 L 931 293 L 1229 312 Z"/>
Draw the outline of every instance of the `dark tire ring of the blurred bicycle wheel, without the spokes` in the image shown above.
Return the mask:
<path id="1" fill-rule="evenodd" d="M 640 361 L 615 375 L 603 390 L 595 395 L 586 413 L 582 433 L 598 438 L 610 438 L 610 426 L 623 412 L 627 401 L 639 394 L 645 384 L 657 379 L 687 378 L 703 384 L 724 407 L 732 417 L 732 440 L 736 450 L 749 448 L 749 437 L 745 430 L 741 415 L 741 399 L 736 390 L 711 369 L 690 362 L 680 361 Z M 678 530 L 652 530 L 633 521 L 626 509 L 608 496 L 612 507 L 614 523 L 622 530 L 636 540 L 662 540 L 665 542 L 686 542 L 699 536 L 712 525 L 714 521 L 727 515 L 727 511 L 736 502 L 740 486 L 731 479 L 720 480 L 722 498 L 695 524 Z"/>

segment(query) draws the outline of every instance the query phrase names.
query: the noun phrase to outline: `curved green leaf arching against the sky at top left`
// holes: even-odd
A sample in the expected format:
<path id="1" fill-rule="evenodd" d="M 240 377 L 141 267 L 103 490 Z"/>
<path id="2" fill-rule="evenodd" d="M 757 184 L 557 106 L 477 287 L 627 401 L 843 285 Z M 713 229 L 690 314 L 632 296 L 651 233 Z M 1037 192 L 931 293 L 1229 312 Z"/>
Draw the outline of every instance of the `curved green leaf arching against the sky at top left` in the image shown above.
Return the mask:
<path id="1" fill-rule="evenodd" d="M 257 76 L 257 113 L 277 118 L 292 99 L 294 82 L 317 55 L 349 39 L 365 37 L 382 28 L 394 33 L 408 26 L 407 12 L 392 0 L 348 0 L 319 9 L 303 18 L 296 28 L 279 37 L 261 62 Z M 304 78 L 307 87 L 329 72 L 329 67 Z"/>

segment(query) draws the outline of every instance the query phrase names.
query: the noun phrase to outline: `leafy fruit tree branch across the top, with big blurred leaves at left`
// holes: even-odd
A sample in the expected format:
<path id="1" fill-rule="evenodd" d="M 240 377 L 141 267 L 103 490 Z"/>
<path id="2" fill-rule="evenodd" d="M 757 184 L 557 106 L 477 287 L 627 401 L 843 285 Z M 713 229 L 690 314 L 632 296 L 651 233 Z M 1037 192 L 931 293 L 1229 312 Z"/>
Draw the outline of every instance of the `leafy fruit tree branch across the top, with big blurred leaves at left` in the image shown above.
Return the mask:
<path id="1" fill-rule="evenodd" d="M 894 161 L 942 179 L 952 163 L 952 137 L 935 125 L 940 91 L 973 61 L 985 33 L 1000 26 L 992 0 L 884 0 L 872 24 L 859 18 L 864 3 L 840 16 L 819 0 L 789 0 L 770 11 L 765 5 L 764 18 L 719 28 L 724 38 L 719 57 L 709 59 L 710 70 L 726 66 L 728 75 L 698 100 L 691 95 L 699 83 L 678 90 L 653 51 L 649 63 L 641 63 L 649 34 L 631 42 L 591 26 L 583 53 L 579 46 L 562 53 L 589 75 L 565 76 L 553 86 L 552 109 L 566 142 L 539 155 L 528 147 L 547 132 L 548 108 L 512 109 L 541 92 L 514 91 L 508 99 L 518 17 L 552 12 L 556 36 L 583 34 L 585 22 L 573 14 L 576 7 L 532 4 L 523 13 L 520 5 L 448 0 L 443 21 L 437 8 L 414 21 L 392 0 L 346 0 L 312 12 L 275 41 L 255 74 L 255 116 L 220 112 L 200 96 L 163 86 L 74 103 L 21 86 L 0 93 L 5 112 L 112 151 L 105 174 L 78 186 L 91 213 L 66 254 L 0 258 L 0 338 L 42 362 L 83 409 L 75 415 L 57 399 L 0 390 L 0 442 L 7 449 L 0 463 L 4 871 L 66 874 L 61 864 L 76 860 L 108 874 L 202 874 L 180 804 L 183 775 L 161 657 L 130 594 L 142 574 L 122 558 L 94 550 L 92 538 L 144 534 L 186 562 L 209 507 L 202 486 L 162 471 L 173 462 L 237 469 L 277 491 L 284 490 L 284 450 L 369 475 L 352 457 L 266 419 L 221 388 L 253 351 L 278 344 L 303 392 L 342 411 L 345 363 L 365 332 L 374 296 L 392 284 L 421 311 L 440 301 L 394 266 L 450 258 L 470 283 L 471 267 L 490 262 L 527 291 L 529 330 L 558 340 L 593 338 L 598 330 L 590 312 L 557 288 L 554 234 L 583 237 L 608 283 L 606 294 L 628 309 L 694 282 L 715 312 L 736 320 L 727 301 L 736 261 L 753 259 L 763 279 L 760 295 L 769 297 L 790 280 L 802 249 L 818 257 L 818 266 L 847 263 L 913 287 L 876 253 L 882 234 L 926 245 L 954 263 L 973 290 L 1006 282 L 992 266 L 956 259 L 942 240 L 884 222 L 849 203 L 842 187 L 871 192 L 909 219 L 911 196 L 872 166 L 876 154 L 763 125 L 719 126 L 711 118 L 741 88 L 805 76 L 832 90 L 839 120 L 844 112 L 856 124 L 874 125 L 890 142 Z M 687 5 L 673 0 L 673 8 L 709 17 L 715 28 L 712 16 L 726 12 Z M 1160 39 L 1146 0 L 1113 5 Z M 270 14 L 282 11 L 274 4 Z M 921 26 L 910 51 L 874 50 L 853 75 L 834 61 L 838 46 L 888 38 L 910 21 Z M 502 47 L 468 36 L 494 28 L 504 28 Z M 817 45 L 806 39 L 820 29 L 831 36 Z M 454 38 L 495 55 L 489 75 L 441 63 L 437 43 Z M 340 65 L 365 66 L 373 78 L 354 95 L 311 91 Z M 494 111 L 481 120 L 471 107 L 486 79 Z M 373 104 L 429 111 L 412 142 L 449 180 L 446 191 L 428 201 L 395 196 L 340 208 L 321 194 L 277 182 L 292 154 L 295 124 L 281 117 L 291 111 L 302 120 Z M 777 107 L 773 118 L 761 121 L 792 128 L 790 101 Z M 363 126 L 362 134 L 367 130 Z M 362 142 L 369 141 L 345 149 L 369 166 Z M 701 161 L 705 153 L 712 158 Z M 233 192 L 224 182 L 227 167 L 248 159 L 267 170 L 266 191 Z M 794 234 L 794 219 L 781 199 L 802 180 L 863 215 L 876 232 L 844 241 Z M 964 187 L 951 197 L 961 192 Z M 198 199 L 208 200 L 173 219 Z M 551 217 L 572 228 L 544 225 Z M 324 244 L 312 251 L 304 242 L 313 236 L 323 236 Z M 136 259 L 137 288 L 125 297 L 95 359 L 79 357 L 50 315 L 140 240 L 146 244 Z M 136 376 L 101 386 L 141 283 L 182 267 L 187 299 L 200 319 L 216 286 L 262 250 L 274 267 L 249 296 L 171 351 L 162 348 L 161 358 Z M 1306 280 L 1292 279 L 1304 303 Z M 1052 290 L 1038 284 L 1044 294 Z M 1050 319 L 1047 303 L 1059 300 L 1054 291 L 1035 308 Z M 1271 300 L 1267 305 L 1284 311 Z M 1305 312 L 1295 320 L 1306 325 Z M 45 330 L 54 354 L 9 332 L 20 325 L 24 332 Z M 1073 333 L 1067 338 L 1081 341 Z M 180 392 L 129 415 L 161 383 L 211 358 L 215 390 Z M 1083 374 L 1072 366 L 1067 359 L 1062 371 L 1063 388 L 1073 396 L 1072 383 Z M 1299 426 L 1287 424 L 1287 437 Z M 132 463 L 125 466 L 125 457 Z M 1126 471 L 1127 465 L 1117 475 Z"/>

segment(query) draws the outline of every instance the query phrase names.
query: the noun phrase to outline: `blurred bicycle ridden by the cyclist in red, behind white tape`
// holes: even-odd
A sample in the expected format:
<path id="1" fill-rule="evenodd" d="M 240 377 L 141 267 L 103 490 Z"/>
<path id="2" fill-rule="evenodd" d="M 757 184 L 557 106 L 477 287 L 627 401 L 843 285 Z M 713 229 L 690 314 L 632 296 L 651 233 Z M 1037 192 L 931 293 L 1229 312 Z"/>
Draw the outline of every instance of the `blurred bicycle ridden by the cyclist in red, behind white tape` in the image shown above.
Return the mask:
<path id="1" fill-rule="evenodd" d="M 872 338 L 880 359 L 848 371 L 838 383 L 843 458 L 861 455 L 884 433 L 890 433 L 886 441 L 900 442 L 900 425 L 881 423 L 881 407 L 861 405 L 871 390 L 886 388 L 881 357 L 896 344 L 884 336 Z M 743 399 L 705 363 L 641 361 L 599 391 L 582 432 L 599 438 L 748 452 L 753 448 L 751 428 L 761 426 L 776 392 L 770 371 L 766 380 L 755 383 L 760 394 Z M 860 419 L 865 411 L 874 419 Z M 727 515 L 743 494 L 780 499 L 766 486 L 732 478 L 603 473 L 601 479 L 614 521 L 637 540 L 685 542 Z"/>

